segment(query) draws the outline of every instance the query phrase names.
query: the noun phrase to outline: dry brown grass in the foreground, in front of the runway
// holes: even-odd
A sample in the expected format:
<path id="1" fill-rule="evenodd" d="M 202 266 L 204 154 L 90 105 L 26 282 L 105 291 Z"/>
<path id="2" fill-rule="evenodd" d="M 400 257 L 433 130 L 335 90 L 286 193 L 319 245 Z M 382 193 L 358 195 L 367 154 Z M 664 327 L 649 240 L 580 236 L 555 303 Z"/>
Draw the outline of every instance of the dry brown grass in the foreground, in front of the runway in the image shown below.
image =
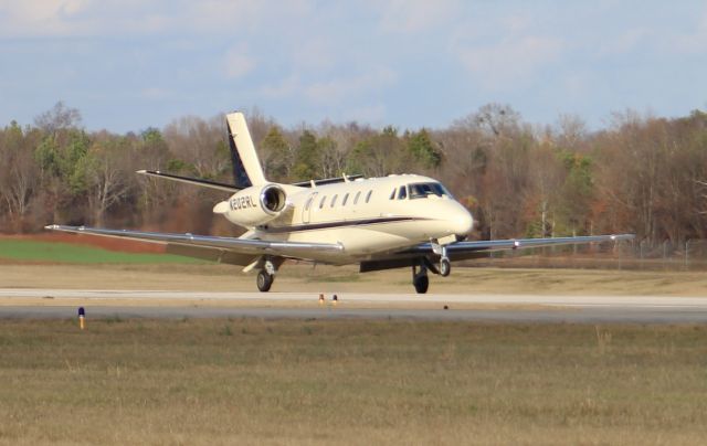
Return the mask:
<path id="1" fill-rule="evenodd" d="M 0 322 L 3 444 L 697 444 L 707 327 Z"/>

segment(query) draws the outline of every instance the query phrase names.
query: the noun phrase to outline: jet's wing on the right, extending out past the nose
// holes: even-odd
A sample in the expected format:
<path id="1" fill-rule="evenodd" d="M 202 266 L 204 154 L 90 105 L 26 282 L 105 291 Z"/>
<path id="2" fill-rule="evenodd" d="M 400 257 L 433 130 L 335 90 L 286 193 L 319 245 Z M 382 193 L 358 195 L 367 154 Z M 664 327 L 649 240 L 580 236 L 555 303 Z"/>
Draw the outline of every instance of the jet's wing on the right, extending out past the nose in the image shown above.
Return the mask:
<path id="1" fill-rule="evenodd" d="M 614 235 L 588 235 L 577 237 L 551 237 L 551 238 L 509 238 L 509 240 L 487 240 L 477 242 L 458 242 L 447 245 L 447 253 L 451 259 L 462 261 L 478 257 L 482 252 L 524 249 L 530 247 L 557 246 L 557 245 L 579 245 L 585 243 L 619 242 L 633 240 L 633 234 Z M 422 243 L 412 248 L 404 249 L 400 254 L 432 254 L 432 244 Z"/>

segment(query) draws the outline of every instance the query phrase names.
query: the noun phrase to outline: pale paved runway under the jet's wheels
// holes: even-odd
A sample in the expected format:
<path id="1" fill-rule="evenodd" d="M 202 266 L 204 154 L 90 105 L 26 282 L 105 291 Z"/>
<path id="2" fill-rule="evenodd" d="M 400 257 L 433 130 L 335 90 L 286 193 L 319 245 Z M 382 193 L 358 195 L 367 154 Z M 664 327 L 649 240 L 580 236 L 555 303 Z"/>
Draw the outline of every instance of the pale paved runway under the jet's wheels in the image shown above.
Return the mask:
<path id="1" fill-rule="evenodd" d="M 0 318 L 395 318 L 514 322 L 707 322 L 707 297 L 383 295 L 0 289 Z M 443 309 L 444 306 L 447 309 Z"/>

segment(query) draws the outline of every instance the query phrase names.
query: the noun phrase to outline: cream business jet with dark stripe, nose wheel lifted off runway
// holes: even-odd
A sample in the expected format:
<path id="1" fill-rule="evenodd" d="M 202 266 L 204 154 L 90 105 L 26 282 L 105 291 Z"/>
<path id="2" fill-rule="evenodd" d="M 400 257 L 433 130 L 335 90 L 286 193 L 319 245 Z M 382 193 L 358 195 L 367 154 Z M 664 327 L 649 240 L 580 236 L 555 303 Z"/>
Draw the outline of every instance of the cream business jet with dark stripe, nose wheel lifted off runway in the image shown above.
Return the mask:
<path id="1" fill-rule="evenodd" d="M 283 184 L 263 174 L 245 118 L 226 115 L 234 184 L 178 177 L 159 171 L 137 173 L 212 188 L 230 198 L 213 212 L 247 230 L 240 237 L 172 234 L 85 226 L 48 230 L 124 237 L 166 245 L 168 253 L 257 269 L 257 288 L 270 290 L 286 259 L 334 265 L 358 264 L 360 272 L 409 267 L 418 293 L 426 293 L 428 273 L 449 276 L 452 261 L 490 251 L 609 242 L 631 234 L 560 238 L 466 242 L 474 220 L 439 181 L 416 176 L 346 177 Z"/>

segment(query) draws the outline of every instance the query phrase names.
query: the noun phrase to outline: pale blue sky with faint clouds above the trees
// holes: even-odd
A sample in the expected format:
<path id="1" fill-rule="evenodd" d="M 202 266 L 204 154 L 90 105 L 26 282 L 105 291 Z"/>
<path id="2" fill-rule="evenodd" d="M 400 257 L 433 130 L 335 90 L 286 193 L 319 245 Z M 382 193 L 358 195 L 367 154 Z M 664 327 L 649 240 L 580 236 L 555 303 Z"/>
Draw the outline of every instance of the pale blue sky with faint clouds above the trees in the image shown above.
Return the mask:
<path id="1" fill-rule="evenodd" d="M 487 103 L 590 128 L 707 108 L 705 1 L 0 0 L 0 125 L 124 132 L 257 107 L 444 127 Z"/>

